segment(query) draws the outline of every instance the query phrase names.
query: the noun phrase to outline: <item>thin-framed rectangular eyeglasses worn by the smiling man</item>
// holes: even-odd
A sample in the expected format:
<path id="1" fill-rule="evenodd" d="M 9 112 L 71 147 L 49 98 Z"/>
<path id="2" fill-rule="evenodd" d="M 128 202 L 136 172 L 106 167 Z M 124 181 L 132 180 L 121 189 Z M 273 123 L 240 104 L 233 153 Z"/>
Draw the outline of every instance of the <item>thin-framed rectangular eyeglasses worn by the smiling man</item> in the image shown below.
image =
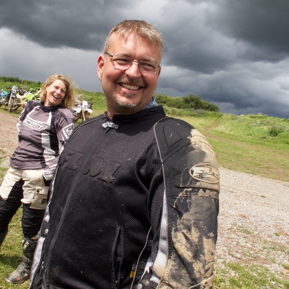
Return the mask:
<path id="1" fill-rule="evenodd" d="M 118 55 L 118 54 L 109 54 L 107 51 L 104 53 L 107 54 L 108 56 L 112 57 L 111 58 L 111 63 L 113 65 L 122 67 L 122 68 L 129 68 L 131 67 L 133 62 L 138 63 L 138 69 L 142 72 L 146 73 L 157 73 L 157 70 L 159 69 L 160 65 L 149 62 L 149 61 L 134 61 L 129 57 L 123 56 L 123 55 Z"/>

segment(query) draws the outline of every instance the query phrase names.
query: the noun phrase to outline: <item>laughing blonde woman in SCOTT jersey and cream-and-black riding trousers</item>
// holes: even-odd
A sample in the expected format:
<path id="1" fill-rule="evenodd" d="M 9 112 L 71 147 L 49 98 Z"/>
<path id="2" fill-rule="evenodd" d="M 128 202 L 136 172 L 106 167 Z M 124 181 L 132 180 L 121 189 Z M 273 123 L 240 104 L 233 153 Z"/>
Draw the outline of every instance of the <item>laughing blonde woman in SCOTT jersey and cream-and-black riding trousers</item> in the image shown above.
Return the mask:
<path id="1" fill-rule="evenodd" d="M 39 93 L 42 101 L 29 101 L 17 122 L 18 146 L 0 185 L 0 246 L 23 204 L 23 260 L 6 278 L 8 283 L 22 283 L 30 277 L 49 184 L 74 128 L 68 109 L 75 100 L 72 83 L 64 74 L 51 75 Z"/>

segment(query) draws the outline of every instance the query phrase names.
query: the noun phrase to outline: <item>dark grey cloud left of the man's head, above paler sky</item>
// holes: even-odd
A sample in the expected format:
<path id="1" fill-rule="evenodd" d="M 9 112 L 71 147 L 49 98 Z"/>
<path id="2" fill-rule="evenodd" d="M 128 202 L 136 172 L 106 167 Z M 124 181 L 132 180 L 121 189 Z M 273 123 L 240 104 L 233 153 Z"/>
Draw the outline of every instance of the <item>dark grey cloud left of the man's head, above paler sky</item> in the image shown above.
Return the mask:
<path id="1" fill-rule="evenodd" d="M 127 3 L 125 0 L 2 0 L 0 9 L 5 13 L 0 17 L 0 27 L 45 47 L 101 50 L 109 30 L 116 24 L 109 17 L 111 10 L 117 12 Z"/>

